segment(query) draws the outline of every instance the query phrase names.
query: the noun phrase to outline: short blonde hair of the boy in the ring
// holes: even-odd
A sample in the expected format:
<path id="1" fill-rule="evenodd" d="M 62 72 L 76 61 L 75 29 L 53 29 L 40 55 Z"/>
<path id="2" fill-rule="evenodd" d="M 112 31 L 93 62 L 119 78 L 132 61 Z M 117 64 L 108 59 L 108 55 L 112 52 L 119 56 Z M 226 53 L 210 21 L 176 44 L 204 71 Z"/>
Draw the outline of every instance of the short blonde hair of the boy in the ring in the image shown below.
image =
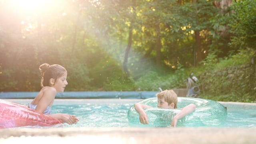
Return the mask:
<path id="1" fill-rule="evenodd" d="M 173 90 L 164 90 L 156 94 L 157 98 L 164 98 L 164 100 L 170 105 L 174 103 L 174 108 L 177 108 L 178 96 Z"/>

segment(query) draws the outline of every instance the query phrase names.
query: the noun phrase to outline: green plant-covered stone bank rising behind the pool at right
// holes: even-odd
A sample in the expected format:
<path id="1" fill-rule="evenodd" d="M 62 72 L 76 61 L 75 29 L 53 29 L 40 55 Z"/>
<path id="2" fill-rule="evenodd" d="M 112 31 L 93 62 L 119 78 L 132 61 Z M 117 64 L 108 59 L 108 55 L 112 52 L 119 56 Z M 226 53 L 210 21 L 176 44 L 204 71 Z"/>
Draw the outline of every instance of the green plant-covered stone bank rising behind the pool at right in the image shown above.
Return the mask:
<path id="1" fill-rule="evenodd" d="M 206 71 L 200 75 L 201 87 L 204 90 L 202 98 L 255 102 L 255 65 L 251 64 L 255 52 L 252 49 L 240 50 L 240 53 L 220 60 L 215 66 L 206 65 Z M 209 65 L 210 68 L 207 68 Z"/>

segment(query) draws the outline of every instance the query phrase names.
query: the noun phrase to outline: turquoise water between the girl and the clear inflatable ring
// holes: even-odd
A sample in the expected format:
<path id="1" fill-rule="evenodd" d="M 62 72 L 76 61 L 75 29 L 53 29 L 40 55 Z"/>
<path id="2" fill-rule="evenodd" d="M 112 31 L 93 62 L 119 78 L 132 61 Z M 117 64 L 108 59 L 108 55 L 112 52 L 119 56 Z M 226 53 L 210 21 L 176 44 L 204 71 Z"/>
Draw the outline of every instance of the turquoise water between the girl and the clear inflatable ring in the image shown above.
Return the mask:
<path id="1" fill-rule="evenodd" d="M 128 127 L 127 112 L 132 104 L 73 104 L 54 105 L 53 113 L 75 115 L 77 124 L 64 127 Z"/>

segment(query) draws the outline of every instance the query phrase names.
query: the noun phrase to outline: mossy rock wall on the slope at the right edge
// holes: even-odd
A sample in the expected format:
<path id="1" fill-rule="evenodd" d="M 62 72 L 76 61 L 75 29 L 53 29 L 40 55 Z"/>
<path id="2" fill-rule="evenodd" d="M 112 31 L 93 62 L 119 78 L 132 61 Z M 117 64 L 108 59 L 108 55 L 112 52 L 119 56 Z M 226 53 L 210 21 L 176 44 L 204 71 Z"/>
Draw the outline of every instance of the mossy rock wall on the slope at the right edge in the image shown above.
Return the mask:
<path id="1" fill-rule="evenodd" d="M 199 76 L 203 92 L 208 94 L 256 94 L 254 64 L 230 66 L 223 70 L 211 70 Z"/>

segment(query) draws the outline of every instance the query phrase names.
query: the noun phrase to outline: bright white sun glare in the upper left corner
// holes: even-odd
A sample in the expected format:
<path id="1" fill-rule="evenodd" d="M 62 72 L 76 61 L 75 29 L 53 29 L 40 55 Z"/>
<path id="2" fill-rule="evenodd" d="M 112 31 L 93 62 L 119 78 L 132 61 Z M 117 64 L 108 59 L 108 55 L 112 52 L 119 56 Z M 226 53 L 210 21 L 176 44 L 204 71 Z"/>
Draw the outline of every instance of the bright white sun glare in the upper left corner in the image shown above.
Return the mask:
<path id="1" fill-rule="evenodd" d="M 33 32 L 45 26 L 48 19 L 65 16 L 63 5 L 66 3 L 64 0 L 0 0 L 2 22 L 20 24 L 17 28 L 21 28 L 23 34 Z"/>

